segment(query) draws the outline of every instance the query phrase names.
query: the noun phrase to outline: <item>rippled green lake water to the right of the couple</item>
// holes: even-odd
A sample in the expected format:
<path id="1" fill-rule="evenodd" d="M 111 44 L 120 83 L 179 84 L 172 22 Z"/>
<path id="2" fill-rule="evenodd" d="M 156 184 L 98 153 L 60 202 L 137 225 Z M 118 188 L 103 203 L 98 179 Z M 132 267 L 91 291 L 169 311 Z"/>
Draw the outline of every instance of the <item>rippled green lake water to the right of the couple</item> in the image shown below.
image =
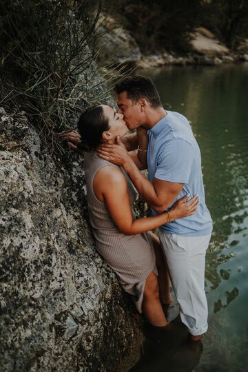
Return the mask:
<path id="1" fill-rule="evenodd" d="M 167 110 L 184 114 L 200 145 L 214 232 L 205 290 L 209 331 L 203 348 L 150 353 L 132 371 L 248 371 L 248 64 L 141 70 Z M 165 351 L 165 350 L 164 350 Z M 145 355 L 147 353 L 147 355 Z M 157 355 L 157 356 L 156 356 Z"/>

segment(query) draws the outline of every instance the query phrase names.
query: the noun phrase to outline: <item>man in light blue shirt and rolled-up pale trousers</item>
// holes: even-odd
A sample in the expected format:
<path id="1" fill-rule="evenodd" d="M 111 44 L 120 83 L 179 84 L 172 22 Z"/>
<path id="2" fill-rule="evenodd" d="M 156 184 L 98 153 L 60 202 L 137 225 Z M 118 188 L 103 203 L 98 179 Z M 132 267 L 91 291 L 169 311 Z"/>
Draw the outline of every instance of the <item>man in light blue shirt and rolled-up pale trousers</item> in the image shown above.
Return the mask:
<path id="1" fill-rule="evenodd" d="M 187 118 L 163 109 L 150 79 L 129 76 L 118 83 L 115 90 L 119 112 L 130 130 L 141 126 L 147 129 L 148 148 L 139 146 L 138 153 L 142 156 L 147 153 L 148 179 L 136 167 L 121 141 L 117 145 L 101 146 L 99 156 L 125 169 L 154 214 L 169 211 L 176 200 L 186 194 L 200 196 L 195 214 L 172 222 L 168 220 L 159 231 L 180 305 L 180 318 L 189 338 L 200 340 L 207 331 L 205 253 L 212 231 L 205 205 L 200 149 Z"/>

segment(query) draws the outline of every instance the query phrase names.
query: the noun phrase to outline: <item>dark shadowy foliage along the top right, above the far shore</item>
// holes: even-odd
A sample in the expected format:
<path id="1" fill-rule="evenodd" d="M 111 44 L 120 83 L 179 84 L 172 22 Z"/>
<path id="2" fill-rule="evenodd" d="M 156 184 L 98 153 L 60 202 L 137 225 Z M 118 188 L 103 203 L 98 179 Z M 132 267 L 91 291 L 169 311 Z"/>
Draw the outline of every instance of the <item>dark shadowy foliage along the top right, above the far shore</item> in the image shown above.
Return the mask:
<path id="1" fill-rule="evenodd" d="M 248 37 L 247 0 L 103 0 L 103 9 L 114 14 L 147 52 L 189 51 L 198 26 L 212 30 L 230 48 Z"/>

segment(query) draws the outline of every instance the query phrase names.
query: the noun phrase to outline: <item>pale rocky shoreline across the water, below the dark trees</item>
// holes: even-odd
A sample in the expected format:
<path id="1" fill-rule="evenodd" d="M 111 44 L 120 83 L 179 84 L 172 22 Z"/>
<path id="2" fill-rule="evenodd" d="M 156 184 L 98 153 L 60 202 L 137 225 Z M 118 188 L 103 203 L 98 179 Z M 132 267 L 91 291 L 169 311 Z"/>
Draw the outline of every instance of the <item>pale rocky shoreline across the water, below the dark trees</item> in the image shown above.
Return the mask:
<path id="1" fill-rule="evenodd" d="M 105 16 L 105 19 L 99 39 L 99 56 L 104 61 L 138 68 L 157 68 L 163 65 L 221 65 L 248 61 L 248 39 L 240 42 L 235 51 L 231 51 L 203 27 L 192 34 L 190 52 L 177 54 L 161 49 L 142 53 L 138 43 L 127 30 L 116 26 L 112 17 Z"/>

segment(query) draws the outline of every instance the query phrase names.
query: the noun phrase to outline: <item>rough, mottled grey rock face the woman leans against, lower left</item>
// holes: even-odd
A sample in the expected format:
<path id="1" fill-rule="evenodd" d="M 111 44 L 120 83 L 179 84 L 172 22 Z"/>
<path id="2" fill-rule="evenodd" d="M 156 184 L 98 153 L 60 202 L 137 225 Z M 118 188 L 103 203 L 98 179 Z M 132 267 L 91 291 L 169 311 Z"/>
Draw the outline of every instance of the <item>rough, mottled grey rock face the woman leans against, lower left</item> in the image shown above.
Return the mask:
<path id="1" fill-rule="evenodd" d="M 24 113 L 0 119 L 1 371 L 127 370 L 141 323 L 94 248 L 83 158 L 55 164 Z"/>

